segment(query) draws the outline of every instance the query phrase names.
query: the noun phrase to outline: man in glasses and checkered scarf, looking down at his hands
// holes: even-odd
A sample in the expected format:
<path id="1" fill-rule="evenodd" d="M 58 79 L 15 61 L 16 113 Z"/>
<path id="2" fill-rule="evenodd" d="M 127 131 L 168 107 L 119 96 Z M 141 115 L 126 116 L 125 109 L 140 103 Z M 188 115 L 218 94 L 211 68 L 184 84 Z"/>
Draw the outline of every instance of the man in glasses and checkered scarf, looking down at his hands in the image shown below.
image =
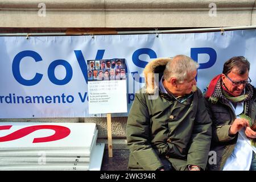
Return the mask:
<path id="1" fill-rule="evenodd" d="M 210 150 L 216 159 L 210 170 L 256 170 L 255 122 L 256 90 L 250 84 L 250 63 L 243 56 L 225 62 L 222 74 L 210 81 L 205 106 L 212 119 Z"/>

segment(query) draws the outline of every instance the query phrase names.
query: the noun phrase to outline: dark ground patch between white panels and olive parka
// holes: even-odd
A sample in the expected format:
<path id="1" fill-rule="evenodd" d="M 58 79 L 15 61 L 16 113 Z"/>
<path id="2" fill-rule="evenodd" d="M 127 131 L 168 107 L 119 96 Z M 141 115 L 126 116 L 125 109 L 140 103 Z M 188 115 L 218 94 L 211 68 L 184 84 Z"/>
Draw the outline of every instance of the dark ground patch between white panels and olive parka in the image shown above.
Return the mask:
<path id="1" fill-rule="evenodd" d="M 127 171 L 129 150 L 113 150 L 113 158 L 109 158 L 108 150 L 104 150 L 101 171 Z"/>

